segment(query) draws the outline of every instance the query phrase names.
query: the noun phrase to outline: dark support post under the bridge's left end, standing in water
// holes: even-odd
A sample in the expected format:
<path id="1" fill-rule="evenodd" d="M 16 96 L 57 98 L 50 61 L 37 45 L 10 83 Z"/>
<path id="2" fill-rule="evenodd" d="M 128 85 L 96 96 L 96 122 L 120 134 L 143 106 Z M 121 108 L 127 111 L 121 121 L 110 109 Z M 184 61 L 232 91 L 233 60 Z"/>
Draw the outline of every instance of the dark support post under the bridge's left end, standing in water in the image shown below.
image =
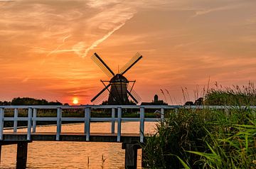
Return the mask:
<path id="1" fill-rule="evenodd" d="M 20 141 L 17 145 L 16 168 L 25 169 L 28 155 L 28 142 Z"/>

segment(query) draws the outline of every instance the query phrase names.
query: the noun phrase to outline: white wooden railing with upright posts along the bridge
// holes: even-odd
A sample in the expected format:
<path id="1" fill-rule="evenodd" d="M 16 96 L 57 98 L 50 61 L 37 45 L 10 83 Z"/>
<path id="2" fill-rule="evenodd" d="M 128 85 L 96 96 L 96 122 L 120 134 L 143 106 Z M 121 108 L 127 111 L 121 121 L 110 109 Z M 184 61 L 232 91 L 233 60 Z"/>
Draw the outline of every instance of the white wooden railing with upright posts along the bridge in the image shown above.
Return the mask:
<path id="1" fill-rule="evenodd" d="M 85 106 L 0 106 L 0 141 L 3 140 L 4 121 L 14 121 L 14 133 L 17 132 L 18 121 L 27 121 L 27 140 L 31 140 L 31 133 L 36 133 L 36 121 L 56 121 L 56 141 L 60 140 L 62 121 L 81 121 L 85 124 L 84 133 L 86 141 L 90 141 L 90 122 L 91 121 L 111 121 L 111 133 L 114 133 L 114 123 L 117 122 L 117 142 L 120 142 L 122 121 L 139 121 L 140 141 L 144 141 L 144 122 L 145 121 L 161 121 L 164 119 L 164 111 L 166 109 L 256 109 L 252 107 L 230 107 L 230 106 L 137 106 L 137 105 L 85 105 Z M 5 109 L 14 109 L 14 117 L 4 116 Z M 28 109 L 27 117 L 18 117 L 18 109 Z M 38 109 L 57 109 L 56 117 L 38 117 Z M 84 117 L 63 117 L 63 109 L 83 109 Z M 112 116 L 107 117 L 91 117 L 92 109 L 111 109 Z M 117 117 L 115 111 L 117 109 Z M 139 109 L 139 118 L 122 117 L 123 109 Z M 145 118 L 145 109 L 159 109 L 161 118 Z M 32 131 L 31 131 L 32 129 Z"/>

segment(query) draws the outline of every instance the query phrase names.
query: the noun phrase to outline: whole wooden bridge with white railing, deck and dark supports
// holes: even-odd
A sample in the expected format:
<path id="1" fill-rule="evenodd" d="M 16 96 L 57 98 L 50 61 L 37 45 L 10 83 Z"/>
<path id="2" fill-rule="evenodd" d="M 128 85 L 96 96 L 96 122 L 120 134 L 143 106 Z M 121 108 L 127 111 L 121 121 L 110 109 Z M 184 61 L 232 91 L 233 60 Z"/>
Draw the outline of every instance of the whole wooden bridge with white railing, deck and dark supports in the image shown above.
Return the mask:
<path id="1" fill-rule="evenodd" d="M 31 141 L 96 141 L 96 142 L 120 142 L 122 148 L 125 149 L 125 168 L 137 167 L 137 149 L 139 142 L 143 143 L 144 124 L 146 121 L 162 121 L 164 120 L 164 112 L 168 109 L 230 109 L 234 107 L 223 106 L 137 106 L 137 105 L 85 105 L 85 106 L 2 106 L 0 107 L 0 160 L 1 160 L 1 146 L 9 144 L 17 144 L 16 168 L 26 168 L 26 159 L 28 151 L 28 143 Z M 240 107 L 241 108 L 241 107 Z M 256 109 L 256 107 L 250 107 Z M 28 116 L 18 116 L 18 111 L 26 109 Z M 41 117 L 37 116 L 38 109 L 55 109 L 57 116 L 55 117 Z M 82 109 L 84 111 L 83 117 L 63 117 L 62 113 L 65 109 Z M 111 109 L 110 117 L 91 117 L 92 110 Z M 124 118 L 123 111 L 127 109 L 137 109 L 139 113 L 138 118 Z M 159 118 L 146 118 L 145 109 L 158 109 L 160 112 Z M 13 117 L 4 116 L 4 112 L 13 111 Z M 117 112 L 116 112 L 117 111 Z M 117 116 L 116 116 L 117 114 Z M 4 130 L 4 122 L 13 121 L 13 132 Z M 27 121 L 26 132 L 17 132 L 18 121 Z M 55 121 L 55 132 L 36 132 L 37 121 Z M 81 122 L 85 125 L 82 133 L 64 133 L 61 131 L 63 121 Z M 111 129 L 109 133 L 91 133 L 90 123 L 93 121 L 110 121 Z M 123 121 L 138 121 L 139 133 L 122 133 Z M 115 133 L 114 124 L 117 123 L 117 132 Z"/>

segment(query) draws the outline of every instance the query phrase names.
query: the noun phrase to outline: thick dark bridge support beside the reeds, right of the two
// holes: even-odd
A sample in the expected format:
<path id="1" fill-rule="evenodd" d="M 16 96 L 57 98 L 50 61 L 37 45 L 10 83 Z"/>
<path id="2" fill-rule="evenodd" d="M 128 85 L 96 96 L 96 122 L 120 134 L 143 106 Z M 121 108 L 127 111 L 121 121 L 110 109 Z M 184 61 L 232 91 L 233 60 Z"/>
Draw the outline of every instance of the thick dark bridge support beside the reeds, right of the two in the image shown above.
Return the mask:
<path id="1" fill-rule="evenodd" d="M 141 148 L 138 143 L 122 143 L 122 148 L 125 149 L 124 168 L 137 168 L 137 150 Z"/>

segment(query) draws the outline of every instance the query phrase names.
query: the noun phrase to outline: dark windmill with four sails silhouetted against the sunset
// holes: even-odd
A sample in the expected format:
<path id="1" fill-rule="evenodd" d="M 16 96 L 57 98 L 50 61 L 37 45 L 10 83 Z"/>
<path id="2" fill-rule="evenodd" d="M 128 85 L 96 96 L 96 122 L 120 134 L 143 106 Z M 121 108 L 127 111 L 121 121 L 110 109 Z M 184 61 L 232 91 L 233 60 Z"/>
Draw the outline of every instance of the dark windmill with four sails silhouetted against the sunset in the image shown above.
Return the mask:
<path id="1" fill-rule="evenodd" d="M 131 69 L 139 60 L 142 59 L 142 55 L 136 53 L 134 58 L 129 60 L 124 67 L 117 73 L 110 69 L 107 64 L 100 58 L 97 53 L 92 55 L 92 60 L 102 69 L 105 74 L 110 77 L 110 80 L 100 80 L 102 84 L 105 86 L 95 97 L 92 98 L 91 102 L 95 102 L 96 99 L 100 98 L 100 95 L 104 93 L 106 90 L 109 92 L 109 97 L 107 100 L 107 104 L 117 105 L 117 104 L 130 104 L 129 97 L 137 104 L 140 101 L 140 97 L 133 90 L 135 80 L 129 81 L 124 74 Z M 129 82 L 132 83 L 132 86 L 129 85 Z M 106 84 L 108 83 L 108 84 Z"/>

